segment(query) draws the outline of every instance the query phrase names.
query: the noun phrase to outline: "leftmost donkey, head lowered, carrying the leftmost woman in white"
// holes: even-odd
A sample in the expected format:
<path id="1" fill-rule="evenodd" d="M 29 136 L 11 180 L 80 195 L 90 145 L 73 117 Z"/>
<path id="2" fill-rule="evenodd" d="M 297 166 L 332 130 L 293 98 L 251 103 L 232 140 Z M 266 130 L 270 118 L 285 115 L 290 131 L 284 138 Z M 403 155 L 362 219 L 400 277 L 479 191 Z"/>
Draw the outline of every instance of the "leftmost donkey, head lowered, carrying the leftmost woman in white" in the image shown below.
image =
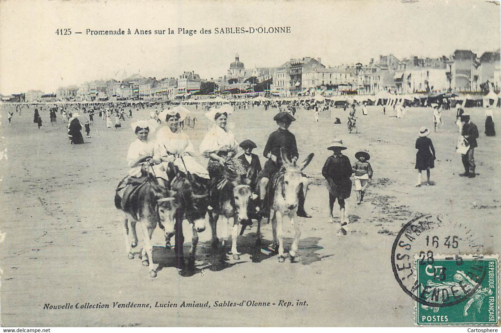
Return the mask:
<path id="1" fill-rule="evenodd" d="M 164 189 L 152 177 L 146 178 L 131 191 L 128 191 L 126 188 L 123 197 L 118 194 L 118 189 L 115 194 L 115 207 L 125 215 L 123 225 L 127 256 L 129 259 L 134 259 L 132 247 L 137 246 L 136 222 L 139 221 L 143 230 L 145 243 L 141 251 L 142 263 L 144 266 L 150 267 L 151 277 L 156 277 L 157 275 L 156 269 L 153 266 L 151 235 L 157 223 L 164 231 L 166 230 L 165 226 L 174 224 L 175 213 L 179 206 L 175 195 L 175 191 Z M 129 241 L 129 221 L 133 236 L 132 242 Z"/>

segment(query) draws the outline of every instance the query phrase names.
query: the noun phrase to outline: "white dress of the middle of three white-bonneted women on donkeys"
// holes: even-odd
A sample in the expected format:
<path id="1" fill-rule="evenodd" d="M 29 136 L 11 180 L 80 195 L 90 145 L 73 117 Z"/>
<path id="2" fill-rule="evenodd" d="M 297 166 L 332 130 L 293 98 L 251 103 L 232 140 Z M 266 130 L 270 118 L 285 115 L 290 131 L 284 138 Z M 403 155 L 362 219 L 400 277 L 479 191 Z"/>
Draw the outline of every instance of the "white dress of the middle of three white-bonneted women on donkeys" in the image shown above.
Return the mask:
<path id="1" fill-rule="evenodd" d="M 195 156 L 195 149 L 188 135 L 181 132 L 179 129 L 175 133 L 172 132 L 168 126 L 164 126 L 158 130 L 156 136 L 155 158 L 160 158 L 165 155 L 174 157 L 173 163 L 180 171 L 186 172 L 187 169 L 191 174 L 209 179 L 207 169 L 201 166 L 193 158 L 193 156 Z M 166 169 L 167 164 L 167 162 L 162 162 L 164 169 Z M 185 165 L 186 168 L 184 167 Z"/>

